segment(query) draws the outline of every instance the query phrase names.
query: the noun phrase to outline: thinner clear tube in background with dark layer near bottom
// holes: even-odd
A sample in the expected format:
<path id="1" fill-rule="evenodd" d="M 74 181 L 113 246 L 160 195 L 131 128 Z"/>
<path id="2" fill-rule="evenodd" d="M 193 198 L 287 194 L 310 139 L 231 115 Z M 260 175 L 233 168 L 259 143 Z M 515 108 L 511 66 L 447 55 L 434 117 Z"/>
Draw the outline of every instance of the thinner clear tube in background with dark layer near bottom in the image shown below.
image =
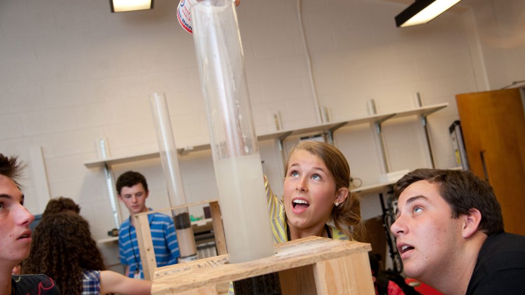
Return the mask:
<path id="1" fill-rule="evenodd" d="M 155 130 L 159 141 L 159 152 L 161 155 L 162 170 L 166 180 L 167 193 L 170 207 L 186 205 L 186 195 L 182 184 L 181 170 L 178 166 L 178 154 L 171 128 L 170 114 L 167 109 L 166 95 L 163 92 L 155 92 L 150 95 L 150 106 L 155 122 Z M 175 200 L 172 204 L 171 200 Z M 190 221 L 188 207 L 173 210 L 175 231 L 177 234 L 178 248 L 181 259 L 195 257 L 197 248 L 195 237 Z M 193 259 L 188 259 L 193 260 Z"/>

